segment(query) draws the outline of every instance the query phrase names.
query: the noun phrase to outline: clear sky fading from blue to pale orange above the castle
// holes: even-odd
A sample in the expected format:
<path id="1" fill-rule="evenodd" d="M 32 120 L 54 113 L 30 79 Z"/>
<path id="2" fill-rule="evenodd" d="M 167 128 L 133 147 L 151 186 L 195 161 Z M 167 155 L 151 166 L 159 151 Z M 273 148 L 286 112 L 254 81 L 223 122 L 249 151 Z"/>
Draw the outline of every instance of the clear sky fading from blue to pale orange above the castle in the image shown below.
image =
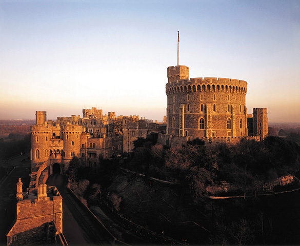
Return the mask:
<path id="1" fill-rule="evenodd" d="M 299 0 L 0 0 L 0 119 L 166 115 L 167 67 L 246 80 L 248 113 L 300 122 Z"/>

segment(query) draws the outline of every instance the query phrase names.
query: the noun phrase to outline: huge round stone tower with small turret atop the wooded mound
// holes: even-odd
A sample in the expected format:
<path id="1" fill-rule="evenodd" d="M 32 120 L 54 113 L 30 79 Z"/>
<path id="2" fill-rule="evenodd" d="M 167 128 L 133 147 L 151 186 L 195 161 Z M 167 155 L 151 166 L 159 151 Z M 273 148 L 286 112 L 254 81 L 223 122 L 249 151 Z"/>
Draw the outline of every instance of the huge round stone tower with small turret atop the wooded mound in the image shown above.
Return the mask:
<path id="1" fill-rule="evenodd" d="M 192 137 L 247 136 L 247 82 L 190 78 L 189 68 L 168 68 L 167 134 Z"/>

